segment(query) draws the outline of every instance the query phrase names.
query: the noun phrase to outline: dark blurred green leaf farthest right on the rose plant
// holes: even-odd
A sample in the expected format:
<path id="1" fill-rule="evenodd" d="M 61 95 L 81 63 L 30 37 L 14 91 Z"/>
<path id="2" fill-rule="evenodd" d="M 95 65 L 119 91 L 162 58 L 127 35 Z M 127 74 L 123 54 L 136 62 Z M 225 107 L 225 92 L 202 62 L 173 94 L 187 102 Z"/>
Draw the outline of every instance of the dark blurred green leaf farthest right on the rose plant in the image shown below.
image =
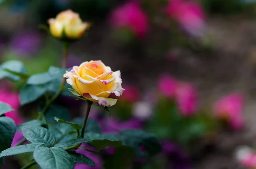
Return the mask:
<path id="1" fill-rule="evenodd" d="M 142 130 L 122 130 L 122 143 L 135 149 L 136 157 L 152 157 L 162 151 L 155 135 Z M 144 146 L 145 152 L 141 151 Z"/>

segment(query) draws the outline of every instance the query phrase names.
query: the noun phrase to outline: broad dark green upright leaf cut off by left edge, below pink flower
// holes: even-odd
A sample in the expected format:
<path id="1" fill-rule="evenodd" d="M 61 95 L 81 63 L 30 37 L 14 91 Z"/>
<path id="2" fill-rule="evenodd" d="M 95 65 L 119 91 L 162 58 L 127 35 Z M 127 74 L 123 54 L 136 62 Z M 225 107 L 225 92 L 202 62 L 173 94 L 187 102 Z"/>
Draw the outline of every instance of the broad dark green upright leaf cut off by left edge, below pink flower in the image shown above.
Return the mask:
<path id="1" fill-rule="evenodd" d="M 9 117 L 0 117 L 0 152 L 11 146 L 14 134 L 14 120 Z M 2 163 L 1 161 L 3 161 L 3 158 L 0 158 L 0 163 Z"/>

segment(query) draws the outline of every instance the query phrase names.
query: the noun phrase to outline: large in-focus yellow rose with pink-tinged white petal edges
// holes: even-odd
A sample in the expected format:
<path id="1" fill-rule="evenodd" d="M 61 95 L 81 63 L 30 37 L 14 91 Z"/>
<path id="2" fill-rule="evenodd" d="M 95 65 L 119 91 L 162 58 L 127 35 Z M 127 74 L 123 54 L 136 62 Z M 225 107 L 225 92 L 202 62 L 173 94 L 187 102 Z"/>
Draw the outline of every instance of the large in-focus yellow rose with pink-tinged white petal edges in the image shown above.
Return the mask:
<path id="1" fill-rule="evenodd" d="M 102 106 L 113 106 L 117 99 L 108 98 L 111 93 L 121 96 L 125 89 L 122 88 L 120 71 L 112 72 L 102 61 L 84 62 L 74 66 L 66 74 L 67 83 L 84 98 L 99 103 Z"/>

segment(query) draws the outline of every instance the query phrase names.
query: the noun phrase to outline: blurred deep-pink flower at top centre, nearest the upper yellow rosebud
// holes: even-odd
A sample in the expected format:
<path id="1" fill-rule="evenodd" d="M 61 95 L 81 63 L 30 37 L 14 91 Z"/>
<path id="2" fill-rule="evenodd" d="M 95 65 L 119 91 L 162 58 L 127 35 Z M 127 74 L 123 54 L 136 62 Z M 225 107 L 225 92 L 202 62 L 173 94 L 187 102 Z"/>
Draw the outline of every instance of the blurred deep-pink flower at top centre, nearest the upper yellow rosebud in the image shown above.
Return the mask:
<path id="1" fill-rule="evenodd" d="M 114 28 L 129 29 L 140 38 L 145 37 L 149 29 L 147 15 L 135 0 L 117 7 L 111 13 L 110 20 Z"/>

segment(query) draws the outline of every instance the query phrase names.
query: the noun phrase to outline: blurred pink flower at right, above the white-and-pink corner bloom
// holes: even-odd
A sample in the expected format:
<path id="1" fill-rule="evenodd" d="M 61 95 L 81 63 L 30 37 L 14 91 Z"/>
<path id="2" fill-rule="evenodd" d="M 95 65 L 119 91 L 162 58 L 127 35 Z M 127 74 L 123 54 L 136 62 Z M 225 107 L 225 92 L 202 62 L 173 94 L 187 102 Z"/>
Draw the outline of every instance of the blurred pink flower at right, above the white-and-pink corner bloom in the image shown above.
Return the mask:
<path id="1" fill-rule="evenodd" d="M 232 129 L 239 130 L 244 127 L 243 108 L 243 95 L 233 93 L 217 100 L 213 106 L 213 113 L 221 119 L 228 120 Z"/>

